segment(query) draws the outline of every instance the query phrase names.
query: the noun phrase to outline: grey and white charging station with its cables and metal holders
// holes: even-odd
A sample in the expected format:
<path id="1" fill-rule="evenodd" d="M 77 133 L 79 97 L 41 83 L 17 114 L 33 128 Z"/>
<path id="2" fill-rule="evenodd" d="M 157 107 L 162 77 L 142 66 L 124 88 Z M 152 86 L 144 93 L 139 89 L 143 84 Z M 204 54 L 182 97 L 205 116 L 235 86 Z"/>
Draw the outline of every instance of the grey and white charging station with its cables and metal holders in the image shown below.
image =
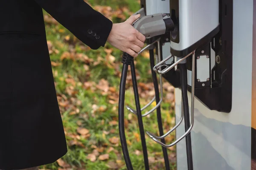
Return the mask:
<path id="1" fill-rule="evenodd" d="M 128 170 L 133 169 L 123 125 L 128 65 L 136 109 L 126 108 L 138 116 L 146 170 L 145 135 L 162 146 L 166 170 L 166 148 L 174 145 L 177 170 L 256 170 L 256 1 L 141 0 L 137 13 L 141 17 L 133 26 L 147 37 L 143 50 L 150 52 L 156 96 L 140 107 L 133 58 L 124 53 L 119 134 Z M 175 87 L 176 125 L 165 134 L 162 79 Z M 154 101 L 157 105 L 142 113 Z M 143 127 L 143 117 L 154 111 L 160 136 Z M 166 144 L 174 130 L 176 140 Z"/>

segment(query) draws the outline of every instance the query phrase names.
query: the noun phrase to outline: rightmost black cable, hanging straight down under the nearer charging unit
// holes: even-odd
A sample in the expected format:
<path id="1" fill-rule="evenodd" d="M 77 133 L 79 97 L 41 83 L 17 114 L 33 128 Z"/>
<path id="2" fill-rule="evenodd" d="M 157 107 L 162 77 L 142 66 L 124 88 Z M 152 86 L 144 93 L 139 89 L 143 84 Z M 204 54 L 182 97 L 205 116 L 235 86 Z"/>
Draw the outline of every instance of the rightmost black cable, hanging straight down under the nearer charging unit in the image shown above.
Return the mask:
<path id="1" fill-rule="evenodd" d="M 183 111 L 184 111 L 184 122 L 185 131 L 189 129 L 189 101 L 187 94 L 187 69 L 186 64 L 180 64 L 180 83 L 181 83 L 181 93 L 183 101 Z M 186 136 L 186 155 L 187 155 L 187 165 L 188 170 L 193 170 L 193 157 L 192 157 L 192 145 L 191 145 L 191 133 Z"/>

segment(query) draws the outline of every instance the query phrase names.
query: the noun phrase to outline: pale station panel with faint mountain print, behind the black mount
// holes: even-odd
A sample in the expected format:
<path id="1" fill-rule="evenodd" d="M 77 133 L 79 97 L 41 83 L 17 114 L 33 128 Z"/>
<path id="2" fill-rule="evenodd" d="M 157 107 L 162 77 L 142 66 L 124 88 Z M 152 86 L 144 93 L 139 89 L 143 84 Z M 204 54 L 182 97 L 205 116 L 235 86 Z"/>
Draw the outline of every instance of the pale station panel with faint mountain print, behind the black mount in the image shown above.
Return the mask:
<path id="1" fill-rule="evenodd" d="M 210 111 L 195 99 L 191 132 L 194 170 L 254 170 L 252 160 L 252 89 L 254 0 L 233 0 L 233 92 L 230 113 Z M 256 16 L 254 16 L 256 17 Z M 255 28 L 254 28 L 255 29 Z M 256 31 L 256 30 L 254 30 Z M 256 57 L 256 56 L 255 56 Z M 214 57 L 212 62 L 214 63 Z M 256 63 L 254 63 L 256 64 Z M 213 66 L 214 64 L 212 64 Z M 188 73 L 189 75 L 190 73 Z M 188 82 L 190 82 L 188 80 Z M 188 93 L 189 103 L 191 94 Z M 255 97 L 255 96 L 254 96 Z M 181 91 L 175 89 L 176 121 L 180 119 Z M 184 123 L 183 123 L 184 125 Z M 254 128 L 255 125 L 254 125 Z M 184 126 L 176 130 L 176 137 Z M 254 137 L 254 136 L 253 136 Z M 187 170 L 185 139 L 177 145 L 177 170 Z M 253 161 L 252 161 L 253 162 Z"/>

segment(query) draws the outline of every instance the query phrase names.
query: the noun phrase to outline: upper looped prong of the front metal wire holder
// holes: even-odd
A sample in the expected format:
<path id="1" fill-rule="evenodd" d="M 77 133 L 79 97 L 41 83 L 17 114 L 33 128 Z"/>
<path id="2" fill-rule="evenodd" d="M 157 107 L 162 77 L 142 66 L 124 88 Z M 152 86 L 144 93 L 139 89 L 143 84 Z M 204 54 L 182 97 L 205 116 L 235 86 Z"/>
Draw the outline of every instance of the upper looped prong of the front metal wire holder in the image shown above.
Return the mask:
<path id="1" fill-rule="evenodd" d="M 159 74 L 166 74 L 168 71 L 170 71 L 172 68 L 174 68 L 176 65 L 178 65 L 180 62 L 182 62 L 184 59 L 186 59 L 187 57 L 189 57 L 191 54 L 193 54 L 193 52 L 189 53 L 188 55 L 186 55 L 185 57 L 177 60 L 175 63 L 173 63 L 171 66 L 163 69 L 163 71 L 160 70 L 160 68 L 162 67 L 163 63 L 166 62 L 168 59 L 170 59 L 172 56 L 169 55 L 168 57 L 166 57 L 165 59 L 163 59 L 161 62 L 159 62 L 157 65 L 154 66 L 153 70 L 156 71 Z"/>

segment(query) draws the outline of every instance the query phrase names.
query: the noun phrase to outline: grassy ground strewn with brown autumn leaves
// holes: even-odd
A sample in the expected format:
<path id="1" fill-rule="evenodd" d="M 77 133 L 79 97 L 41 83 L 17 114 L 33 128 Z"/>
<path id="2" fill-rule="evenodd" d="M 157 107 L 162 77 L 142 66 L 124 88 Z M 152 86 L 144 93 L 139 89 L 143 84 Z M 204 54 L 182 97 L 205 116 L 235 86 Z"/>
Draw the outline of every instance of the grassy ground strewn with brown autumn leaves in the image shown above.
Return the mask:
<path id="1" fill-rule="evenodd" d="M 137 0 L 88 0 L 94 9 L 114 23 L 125 21 L 140 8 Z M 48 48 L 58 103 L 67 137 L 68 153 L 53 164 L 41 166 L 50 170 L 125 170 L 118 131 L 118 94 L 122 52 L 108 43 L 91 50 L 49 14 L 44 13 Z M 84 21 L 81 21 L 84 22 Z M 149 54 L 135 59 L 141 106 L 154 97 Z M 175 123 L 174 88 L 165 82 L 161 105 L 165 132 Z M 125 105 L 135 108 L 131 74 L 128 73 Z M 154 107 L 156 103 L 152 104 Z M 143 112 L 145 113 L 145 112 Z M 158 133 L 156 112 L 143 118 L 145 130 Z M 128 149 L 135 170 L 143 170 L 143 154 L 137 117 L 125 110 Z M 170 143 L 175 134 L 169 135 Z M 50 140 L 50 139 L 49 139 Z M 151 170 L 163 170 L 159 144 L 146 135 Z M 175 147 L 168 149 L 175 170 Z M 50 154 L 50 153 L 49 153 Z"/>

